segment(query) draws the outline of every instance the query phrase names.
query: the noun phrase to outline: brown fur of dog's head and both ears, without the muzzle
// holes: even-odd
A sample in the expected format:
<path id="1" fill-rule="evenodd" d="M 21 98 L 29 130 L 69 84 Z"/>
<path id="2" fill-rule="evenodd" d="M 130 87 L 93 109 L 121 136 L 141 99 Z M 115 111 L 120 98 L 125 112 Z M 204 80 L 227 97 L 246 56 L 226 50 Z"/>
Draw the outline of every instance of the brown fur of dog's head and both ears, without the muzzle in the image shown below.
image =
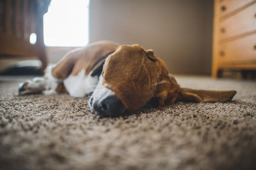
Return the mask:
<path id="1" fill-rule="evenodd" d="M 230 101 L 236 91 L 182 89 L 163 60 L 139 45 L 119 46 L 103 68 L 103 85 L 115 92 L 125 108 L 137 110 L 154 97 L 159 106 L 175 101 Z"/>

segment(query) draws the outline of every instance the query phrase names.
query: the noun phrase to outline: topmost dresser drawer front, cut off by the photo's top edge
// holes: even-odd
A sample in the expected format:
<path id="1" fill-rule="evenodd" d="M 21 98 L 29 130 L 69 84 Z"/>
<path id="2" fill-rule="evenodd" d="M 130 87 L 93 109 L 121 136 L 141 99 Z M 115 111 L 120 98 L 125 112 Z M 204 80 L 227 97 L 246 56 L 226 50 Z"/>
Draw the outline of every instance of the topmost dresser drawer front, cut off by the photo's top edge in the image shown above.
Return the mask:
<path id="1" fill-rule="evenodd" d="M 252 3 L 253 0 L 220 0 L 220 17 Z"/>

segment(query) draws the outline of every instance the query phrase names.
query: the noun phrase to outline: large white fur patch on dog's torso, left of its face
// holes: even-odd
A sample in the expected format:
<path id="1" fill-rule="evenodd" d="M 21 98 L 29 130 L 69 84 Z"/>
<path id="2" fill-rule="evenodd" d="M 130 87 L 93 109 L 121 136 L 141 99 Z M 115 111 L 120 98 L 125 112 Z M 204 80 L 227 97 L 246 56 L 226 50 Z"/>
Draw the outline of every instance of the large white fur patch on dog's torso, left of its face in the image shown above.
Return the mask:
<path id="1" fill-rule="evenodd" d="M 86 94 L 93 92 L 99 78 L 98 76 L 84 76 L 84 69 L 82 69 L 76 76 L 68 76 L 63 83 L 70 94 L 73 97 L 84 97 Z"/>

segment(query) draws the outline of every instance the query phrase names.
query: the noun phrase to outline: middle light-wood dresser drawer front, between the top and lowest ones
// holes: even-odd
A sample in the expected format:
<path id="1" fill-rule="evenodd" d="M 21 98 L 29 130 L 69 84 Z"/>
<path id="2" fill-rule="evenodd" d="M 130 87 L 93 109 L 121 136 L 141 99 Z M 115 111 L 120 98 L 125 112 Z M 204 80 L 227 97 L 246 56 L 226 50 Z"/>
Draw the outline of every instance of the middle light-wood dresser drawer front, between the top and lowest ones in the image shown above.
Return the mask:
<path id="1" fill-rule="evenodd" d="M 220 39 L 256 31 L 256 3 L 220 22 Z"/>

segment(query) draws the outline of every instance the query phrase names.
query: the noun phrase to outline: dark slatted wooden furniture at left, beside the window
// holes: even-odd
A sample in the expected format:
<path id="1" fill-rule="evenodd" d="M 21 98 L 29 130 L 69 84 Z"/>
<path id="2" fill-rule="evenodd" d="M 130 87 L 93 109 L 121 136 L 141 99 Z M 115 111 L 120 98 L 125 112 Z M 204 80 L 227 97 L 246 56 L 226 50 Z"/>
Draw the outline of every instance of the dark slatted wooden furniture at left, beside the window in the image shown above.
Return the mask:
<path id="1" fill-rule="evenodd" d="M 0 57 L 35 57 L 47 66 L 43 16 L 51 0 L 0 0 Z M 29 42 L 36 35 L 35 44 Z"/>

